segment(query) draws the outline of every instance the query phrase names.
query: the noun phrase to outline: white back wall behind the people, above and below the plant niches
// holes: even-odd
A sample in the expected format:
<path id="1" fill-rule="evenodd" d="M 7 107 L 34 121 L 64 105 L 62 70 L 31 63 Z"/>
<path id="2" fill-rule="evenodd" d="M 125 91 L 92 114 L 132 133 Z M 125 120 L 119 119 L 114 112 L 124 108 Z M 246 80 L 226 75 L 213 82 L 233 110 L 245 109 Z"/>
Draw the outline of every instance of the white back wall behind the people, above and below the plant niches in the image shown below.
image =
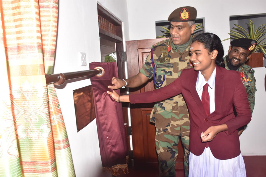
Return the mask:
<path id="1" fill-rule="evenodd" d="M 155 21 L 167 20 L 169 14 L 181 6 L 194 6 L 197 18 L 205 17 L 205 32 L 215 33 L 221 40 L 229 38 L 229 16 L 265 13 L 265 0 L 127 0 L 129 17 L 129 40 L 156 38 Z M 266 22 L 262 22 L 264 24 Z M 225 53 L 228 53 L 230 41 L 223 42 Z M 265 141 L 265 105 L 264 89 L 265 68 L 254 68 L 257 79 L 256 104 L 252 121 L 240 136 L 242 155 L 266 155 Z"/>

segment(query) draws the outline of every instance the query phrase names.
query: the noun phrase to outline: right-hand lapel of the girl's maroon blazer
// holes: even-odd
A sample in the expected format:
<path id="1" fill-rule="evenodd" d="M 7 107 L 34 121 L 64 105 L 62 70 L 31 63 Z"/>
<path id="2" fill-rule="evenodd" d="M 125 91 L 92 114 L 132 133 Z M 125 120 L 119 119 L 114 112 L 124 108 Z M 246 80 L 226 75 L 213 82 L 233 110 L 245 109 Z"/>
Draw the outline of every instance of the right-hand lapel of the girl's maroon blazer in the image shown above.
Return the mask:
<path id="1" fill-rule="evenodd" d="M 224 76 L 223 71 L 220 67 L 216 67 L 216 76 L 215 76 L 215 111 L 210 115 L 210 117 L 218 114 L 219 110 L 222 109 L 223 94 L 224 94 Z"/>

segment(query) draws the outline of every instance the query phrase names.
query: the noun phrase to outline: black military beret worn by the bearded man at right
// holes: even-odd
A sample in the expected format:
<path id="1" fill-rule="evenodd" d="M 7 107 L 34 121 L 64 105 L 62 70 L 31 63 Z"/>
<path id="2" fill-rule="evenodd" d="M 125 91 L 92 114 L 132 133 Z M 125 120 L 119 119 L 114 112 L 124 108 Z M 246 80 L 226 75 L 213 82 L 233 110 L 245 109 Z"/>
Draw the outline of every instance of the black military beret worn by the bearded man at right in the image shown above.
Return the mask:
<path id="1" fill-rule="evenodd" d="M 257 41 L 247 38 L 239 38 L 231 41 L 231 46 L 241 47 L 247 51 L 252 51 L 257 45 Z"/>

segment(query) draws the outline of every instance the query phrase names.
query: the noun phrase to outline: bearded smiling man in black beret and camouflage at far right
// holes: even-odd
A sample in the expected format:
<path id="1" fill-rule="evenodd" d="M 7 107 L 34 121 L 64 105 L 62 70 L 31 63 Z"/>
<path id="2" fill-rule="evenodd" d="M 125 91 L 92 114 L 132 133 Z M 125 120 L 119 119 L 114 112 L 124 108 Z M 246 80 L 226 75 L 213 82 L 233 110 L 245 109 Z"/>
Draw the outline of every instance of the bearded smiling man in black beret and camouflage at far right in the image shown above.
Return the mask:
<path id="1" fill-rule="evenodd" d="M 254 77 L 255 71 L 249 65 L 245 64 L 245 62 L 250 58 L 250 54 L 256 45 L 257 41 L 252 39 L 235 39 L 231 41 L 228 55 L 226 55 L 224 58 L 224 64 L 227 70 L 235 70 L 240 72 L 242 82 L 246 88 L 251 114 L 255 105 L 255 91 L 257 91 L 255 85 L 256 79 Z M 243 130 L 244 127 L 239 129 L 239 135 L 241 135 Z"/>

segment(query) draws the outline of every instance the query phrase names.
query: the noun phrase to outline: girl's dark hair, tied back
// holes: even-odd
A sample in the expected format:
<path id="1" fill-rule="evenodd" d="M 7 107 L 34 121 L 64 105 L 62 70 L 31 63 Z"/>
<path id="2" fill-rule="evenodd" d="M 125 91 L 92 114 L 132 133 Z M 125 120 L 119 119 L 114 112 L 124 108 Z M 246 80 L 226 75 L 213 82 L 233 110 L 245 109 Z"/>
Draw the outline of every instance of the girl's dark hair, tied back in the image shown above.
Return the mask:
<path id="1" fill-rule="evenodd" d="M 225 67 L 223 63 L 223 55 L 224 55 L 223 45 L 220 38 L 217 35 L 205 32 L 195 36 L 192 42 L 202 43 L 204 48 L 207 49 L 209 52 L 217 50 L 218 54 L 215 58 L 215 64 L 223 68 Z"/>

